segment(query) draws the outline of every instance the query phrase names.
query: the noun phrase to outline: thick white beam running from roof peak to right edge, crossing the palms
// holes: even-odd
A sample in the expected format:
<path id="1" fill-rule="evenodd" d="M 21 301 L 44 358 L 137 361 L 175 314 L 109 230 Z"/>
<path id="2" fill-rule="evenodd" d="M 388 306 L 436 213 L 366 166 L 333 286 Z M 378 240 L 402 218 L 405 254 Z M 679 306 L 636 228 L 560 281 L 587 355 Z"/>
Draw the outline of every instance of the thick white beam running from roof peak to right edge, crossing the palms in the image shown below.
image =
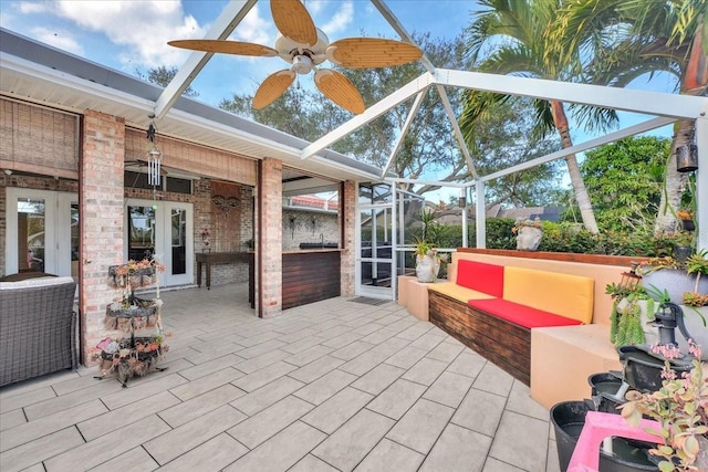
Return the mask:
<path id="1" fill-rule="evenodd" d="M 558 99 L 625 112 L 675 118 L 698 118 L 708 113 L 708 98 L 542 78 L 438 69 L 435 83 L 464 88 Z"/>

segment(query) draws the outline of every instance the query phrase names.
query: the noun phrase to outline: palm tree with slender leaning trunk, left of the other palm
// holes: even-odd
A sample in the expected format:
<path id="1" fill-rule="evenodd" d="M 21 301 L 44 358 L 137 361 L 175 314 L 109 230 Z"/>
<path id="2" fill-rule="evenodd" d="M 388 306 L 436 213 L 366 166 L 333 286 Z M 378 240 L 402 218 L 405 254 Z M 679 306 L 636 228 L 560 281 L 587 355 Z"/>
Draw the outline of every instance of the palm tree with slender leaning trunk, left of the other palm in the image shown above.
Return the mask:
<path id="1" fill-rule="evenodd" d="M 513 74 L 554 81 L 573 81 L 570 59 L 561 61 L 561 54 L 549 43 L 548 29 L 553 24 L 560 8 L 559 0 L 480 0 L 486 8 L 467 28 L 468 53 L 477 70 L 497 74 Z M 498 95 L 467 91 L 460 117 L 460 128 L 468 145 L 475 147 L 475 125 L 489 113 L 491 104 L 512 99 Z M 534 99 L 535 132 L 542 135 L 556 130 L 562 147 L 573 146 L 565 106 L 559 101 Z M 616 125 L 614 111 L 570 105 L 589 129 L 608 129 Z M 597 223 L 583 182 L 575 155 L 565 158 L 575 200 L 585 229 L 597 233 Z"/>

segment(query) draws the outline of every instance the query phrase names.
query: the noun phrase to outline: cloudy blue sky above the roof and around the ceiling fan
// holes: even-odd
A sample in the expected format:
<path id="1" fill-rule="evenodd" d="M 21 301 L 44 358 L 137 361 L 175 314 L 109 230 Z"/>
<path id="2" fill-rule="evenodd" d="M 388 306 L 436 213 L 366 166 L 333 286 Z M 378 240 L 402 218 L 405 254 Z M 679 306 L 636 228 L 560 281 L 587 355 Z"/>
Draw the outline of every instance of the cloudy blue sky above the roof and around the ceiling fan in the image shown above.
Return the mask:
<path id="1" fill-rule="evenodd" d="M 34 40 L 135 75 L 158 65 L 179 66 L 188 52 L 167 45 L 204 38 L 225 0 L 14 1 L 0 0 L 0 24 Z M 389 0 L 388 8 L 409 33 L 429 31 L 452 39 L 469 22 L 475 1 Z M 331 41 L 348 36 L 398 39 L 367 0 L 306 0 L 315 24 Z M 231 39 L 272 46 L 277 30 L 269 3 L 259 1 Z M 233 92 L 252 93 L 270 73 L 285 69 L 278 57 L 216 54 L 192 83 L 198 99 L 217 105 Z"/>

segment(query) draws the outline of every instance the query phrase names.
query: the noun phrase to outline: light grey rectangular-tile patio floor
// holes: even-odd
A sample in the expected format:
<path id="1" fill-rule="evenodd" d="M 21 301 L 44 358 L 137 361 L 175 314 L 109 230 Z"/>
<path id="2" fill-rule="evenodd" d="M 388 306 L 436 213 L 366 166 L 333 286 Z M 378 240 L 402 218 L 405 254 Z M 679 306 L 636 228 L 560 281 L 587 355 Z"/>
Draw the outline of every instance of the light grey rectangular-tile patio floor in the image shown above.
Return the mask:
<path id="1" fill-rule="evenodd" d="M 162 373 L 0 389 L 0 470 L 558 471 L 529 388 L 389 302 L 256 318 L 246 287 L 163 292 Z"/>

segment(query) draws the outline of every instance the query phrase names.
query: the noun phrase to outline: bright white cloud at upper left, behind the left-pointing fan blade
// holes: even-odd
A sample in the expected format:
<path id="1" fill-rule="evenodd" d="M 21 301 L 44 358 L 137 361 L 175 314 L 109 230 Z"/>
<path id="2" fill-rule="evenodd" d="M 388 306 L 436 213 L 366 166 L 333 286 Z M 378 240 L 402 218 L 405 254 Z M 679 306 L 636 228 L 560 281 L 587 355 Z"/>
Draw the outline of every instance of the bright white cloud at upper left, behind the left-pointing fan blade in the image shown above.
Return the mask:
<path id="1" fill-rule="evenodd" d="M 202 38 L 206 32 L 174 0 L 58 1 L 54 6 L 58 15 L 127 46 L 119 60 L 132 66 L 179 65 L 188 52 L 167 45 L 167 41 Z"/>

